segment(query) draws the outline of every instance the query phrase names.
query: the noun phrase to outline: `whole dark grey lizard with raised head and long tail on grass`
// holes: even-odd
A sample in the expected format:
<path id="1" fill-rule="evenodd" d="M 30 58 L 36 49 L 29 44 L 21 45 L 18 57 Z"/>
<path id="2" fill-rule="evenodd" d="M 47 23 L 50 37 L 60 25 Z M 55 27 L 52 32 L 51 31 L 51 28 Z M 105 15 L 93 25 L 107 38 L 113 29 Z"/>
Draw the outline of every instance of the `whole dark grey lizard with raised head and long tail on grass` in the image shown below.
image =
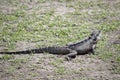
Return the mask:
<path id="1" fill-rule="evenodd" d="M 24 51 L 15 51 L 15 52 L 0 52 L 0 54 L 29 54 L 29 53 L 50 53 L 50 54 L 63 54 L 66 55 L 66 59 L 75 58 L 76 55 L 83 55 L 92 53 L 94 54 L 95 46 L 100 39 L 101 31 L 93 31 L 87 38 L 65 46 L 52 46 L 52 47 L 43 47 L 38 49 L 30 49 Z"/>

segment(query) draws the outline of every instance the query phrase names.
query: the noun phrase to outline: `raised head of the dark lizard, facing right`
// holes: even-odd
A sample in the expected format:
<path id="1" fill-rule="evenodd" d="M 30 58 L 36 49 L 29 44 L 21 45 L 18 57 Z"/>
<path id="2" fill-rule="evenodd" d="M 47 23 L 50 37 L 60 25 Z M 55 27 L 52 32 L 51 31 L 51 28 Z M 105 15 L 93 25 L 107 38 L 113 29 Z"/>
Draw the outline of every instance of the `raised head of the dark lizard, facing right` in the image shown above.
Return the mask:
<path id="1" fill-rule="evenodd" d="M 101 35 L 101 31 L 93 31 L 90 34 L 89 39 L 91 39 L 93 43 L 97 43 L 97 41 L 100 39 L 100 35 Z"/>

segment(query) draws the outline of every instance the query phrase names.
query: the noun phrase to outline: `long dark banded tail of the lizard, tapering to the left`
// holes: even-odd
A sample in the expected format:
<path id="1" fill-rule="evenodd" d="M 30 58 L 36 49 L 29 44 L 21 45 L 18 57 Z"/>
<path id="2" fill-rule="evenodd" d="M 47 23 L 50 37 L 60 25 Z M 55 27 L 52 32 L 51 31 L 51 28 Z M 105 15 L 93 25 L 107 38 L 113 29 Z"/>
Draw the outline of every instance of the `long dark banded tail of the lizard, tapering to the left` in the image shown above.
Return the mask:
<path id="1" fill-rule="evenodd" d="M 69 50 L 65 47 L 44 47 L 38 49 L 30 49 L 25 51 L 15 51 L 15 52 L 0 52 L 0 54 L 30 54 L 30 53 L 44 53 L 48 52 L 51 54 L 68 54 Z"/>

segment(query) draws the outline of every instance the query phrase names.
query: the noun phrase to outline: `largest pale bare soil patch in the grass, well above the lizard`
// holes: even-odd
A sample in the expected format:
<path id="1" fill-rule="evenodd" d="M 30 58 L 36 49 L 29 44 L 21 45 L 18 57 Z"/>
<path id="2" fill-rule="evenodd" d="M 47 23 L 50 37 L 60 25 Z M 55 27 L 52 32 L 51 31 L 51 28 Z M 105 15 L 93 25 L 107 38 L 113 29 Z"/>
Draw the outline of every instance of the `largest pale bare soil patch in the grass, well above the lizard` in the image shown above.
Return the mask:
<path id="1" fill-rule="evenodd" d="M 37 9 L 37 11 L 35 11 L 36 14 L 40 14 L 40 13 L 44 14 L 45 12 L 53 11 L 54 15 L 57 15 L 57 16 L 61 15 L 62 16 L 64 14 L 71 13 L 71 12 L 75 11 L 74 8 L 67 7 L 66 3 L 60 3 L 57 1 L 39 3 L 39 4 L 32 2 L 32 4 L 33 4 L 32 6 L 29 5 L 30 6 L 30 9 L 28 9 L 29 13 L 32 13 L 32 12 L 34 12 L 34 10 Z"/>

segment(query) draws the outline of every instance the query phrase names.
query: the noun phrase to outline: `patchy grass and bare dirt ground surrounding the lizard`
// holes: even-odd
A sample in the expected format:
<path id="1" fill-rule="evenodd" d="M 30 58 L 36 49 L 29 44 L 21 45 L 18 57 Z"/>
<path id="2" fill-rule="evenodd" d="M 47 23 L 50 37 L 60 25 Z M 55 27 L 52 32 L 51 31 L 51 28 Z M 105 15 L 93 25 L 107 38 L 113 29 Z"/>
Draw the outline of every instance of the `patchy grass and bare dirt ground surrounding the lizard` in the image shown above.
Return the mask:
<path id="1" fill-rule="evenodd" d="M 66 45 L 102 31 L 96 55 L 0 54 L 1 80 L 119 80 L 119 0 L 0 0 L 0 51 Z"/>

